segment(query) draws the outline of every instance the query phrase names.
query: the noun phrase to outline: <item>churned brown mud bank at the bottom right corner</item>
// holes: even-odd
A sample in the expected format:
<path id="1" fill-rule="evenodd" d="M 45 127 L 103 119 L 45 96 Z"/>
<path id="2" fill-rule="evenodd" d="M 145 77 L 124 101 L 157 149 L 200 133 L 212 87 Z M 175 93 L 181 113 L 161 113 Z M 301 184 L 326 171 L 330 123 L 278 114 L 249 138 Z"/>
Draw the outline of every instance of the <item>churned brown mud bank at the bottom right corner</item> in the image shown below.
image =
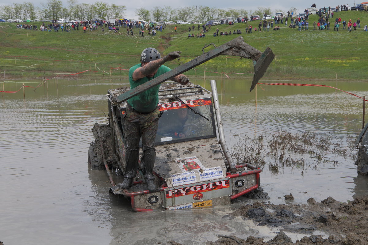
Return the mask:
<path id="1" fill-rule="evenodd" d="M 285 199 L 292 200 L 293 195 Z M 206 245 L 367 245 L 368 244 L 368 196 L 359 197 L 350 202 L 339 202 L 328 197 L 320 203 L 314 198 L 308 199 L 308 204 L 274 205 L 269 202 L 255 202 L 242 206 L 233 213 L 225 215 L 224 219 L 251 219 L 258 226 L 276 227 L 280 232 L 269 241 L 253 236 L 247 239 L 221 236 L 215 242 Z M 323 231 L 329 235 L 312 234 Z M 305 234 L 296 242 L 284 233 Z M 180 245 L 175 241 L 169 244 Z M 184 244 L 183 244 L 184 245 Z"/>

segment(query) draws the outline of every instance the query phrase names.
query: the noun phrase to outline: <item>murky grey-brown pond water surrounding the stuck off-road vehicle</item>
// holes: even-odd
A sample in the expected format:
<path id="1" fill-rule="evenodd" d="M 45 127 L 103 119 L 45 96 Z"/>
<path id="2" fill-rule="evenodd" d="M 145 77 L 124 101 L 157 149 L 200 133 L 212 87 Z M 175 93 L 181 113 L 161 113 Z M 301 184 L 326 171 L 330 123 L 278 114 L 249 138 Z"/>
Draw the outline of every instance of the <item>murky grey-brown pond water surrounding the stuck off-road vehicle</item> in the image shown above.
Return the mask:
<path id="1" fill-rule="evenodd" d="M 272 82 L 272 81 L 263 81 Z M 209 87 L 209 81 L 197 81 Z M 335 86 L 335 81 L 321 82 Z M 26 84 L 36 86 L 37 84 Z M 248 200 L 202 210 L 134 213 L 124 198 L 109 195 L 104 172 L 88 170 L 86 160 L 91 128 L 107 122 L 107 89 L 120 82 L 49 81 L 48 90 L 31 88 L 4 94 L 0 105 L 0 241 L 8 244 L 183 244 L 215 241 L 216 234 L 273 237 L 275 230 L 252 221 L 223 216 Z M 279 129 L 315 130 L 320 135 L 356 134 L 362 126 L 362 100 L 323 87 L 261 85 L 249 93 L 250 81 L 221 80 L 217 87 L 228 145 L 234 135 L 257 136 Z M 1 86 L 2 87 L 2 86 Z M 15 91 L 19 83 L 6 83 Z M 337 83 L 342 90 L 368 95 L 366 83 Z M 357 176 L 352 159 L 335 158 L 317 169 L 280 169 L 266 166 L 261 184 L 270 202 L 294 203 L 309 197 L 339 201 L 368 194 L 368 179 Z M 291 237 L 297 239 L 300 234 Z"/>

